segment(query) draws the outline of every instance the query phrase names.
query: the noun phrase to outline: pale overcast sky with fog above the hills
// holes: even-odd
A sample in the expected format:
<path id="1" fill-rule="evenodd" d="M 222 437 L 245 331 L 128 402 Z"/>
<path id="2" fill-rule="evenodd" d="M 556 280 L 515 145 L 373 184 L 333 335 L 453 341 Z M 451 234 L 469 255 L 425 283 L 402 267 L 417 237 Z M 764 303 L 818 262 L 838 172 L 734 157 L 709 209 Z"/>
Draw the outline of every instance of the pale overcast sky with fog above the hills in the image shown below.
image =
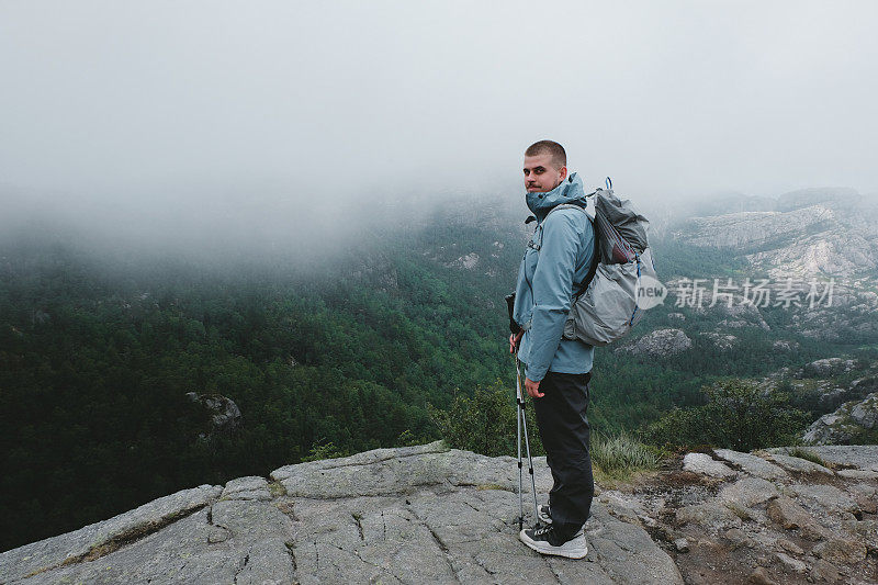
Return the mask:
<path id="1" fill-rule="evenodd" d="M 0 198 L 878 191 L 878 2 L 0 0 Z"/>

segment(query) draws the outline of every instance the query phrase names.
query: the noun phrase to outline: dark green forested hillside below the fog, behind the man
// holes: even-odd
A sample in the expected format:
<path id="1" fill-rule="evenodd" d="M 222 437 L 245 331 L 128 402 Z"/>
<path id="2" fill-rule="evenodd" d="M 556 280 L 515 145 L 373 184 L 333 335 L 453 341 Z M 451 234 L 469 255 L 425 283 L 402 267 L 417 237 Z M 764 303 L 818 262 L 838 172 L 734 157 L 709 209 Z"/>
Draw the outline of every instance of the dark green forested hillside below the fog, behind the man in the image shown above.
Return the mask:
<path id="1" fill-rule="evenodd" d="M 431 408 L 449 408 L 455 392 L 499 380 L 511 401 L 503 295 L 526 241 L 520 220 L 436 212 L 307 262 L 294 249 L 209 262 L 95 250 L 57 233 L 8 237 L 0 549 L 184 486 L 432 440 Z M 655 248 L 662 278 L 744 269 L 718 251 Z M 669 325 L 671 303 L 639 327 Z M 716 328 L 711 319 L 696 328 Z M 595 427 L 633 430 L 698 404 L 716 375 L 764 375 L 857 348 L 801 338 L 797 351 L 777 352 L 775 334 L 740 335 L 733 352 L 707 342 L 664 359 L 598 349 Z M 239 424 L 214 428 L 190 392 L 230 398 Z"/>

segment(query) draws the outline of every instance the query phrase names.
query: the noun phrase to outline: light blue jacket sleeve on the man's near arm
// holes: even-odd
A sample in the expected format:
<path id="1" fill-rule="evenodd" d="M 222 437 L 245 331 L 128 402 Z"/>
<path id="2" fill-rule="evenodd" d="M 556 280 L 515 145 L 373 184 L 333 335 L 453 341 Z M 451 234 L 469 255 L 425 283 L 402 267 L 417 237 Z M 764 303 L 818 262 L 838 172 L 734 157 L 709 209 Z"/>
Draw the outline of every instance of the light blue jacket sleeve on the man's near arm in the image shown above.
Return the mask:
<path id="1" fill-rule="evenodd" d="M 533 273 L 534 307 L 526 372 L 527 378 L 534 382 L 545 376 L 564 334 L 581 246 L 582 238 L 574 216 L 555 212 L 547 217 L 540 259 Z"/>

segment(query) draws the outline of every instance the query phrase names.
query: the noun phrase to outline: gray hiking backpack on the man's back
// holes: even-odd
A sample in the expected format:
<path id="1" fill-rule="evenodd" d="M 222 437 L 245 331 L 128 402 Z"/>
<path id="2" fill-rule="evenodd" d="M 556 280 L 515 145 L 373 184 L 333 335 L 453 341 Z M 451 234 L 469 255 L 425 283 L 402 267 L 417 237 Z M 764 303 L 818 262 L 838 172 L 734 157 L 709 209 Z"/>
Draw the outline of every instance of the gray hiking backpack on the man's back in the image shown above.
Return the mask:
<path id="1" fill-rule="evenodd" d="M 628 335 L 643 317 L 638 306 L 638 293 L 643 277 L 658 280 L 652 250 L 646 238 L 650 222 L 607 189 L 587 195 L 594 198 L 594 210 L 564 204 L 554 207 L 576 207 L 588 215 L 595 228 L 595 254 L 592 268 L 571 303 L 564 323 L 564 339 L 579 339 L 592 346 L 606 346 Z M 589 202 L 590 203 L 590 202 Z M 548 217 L 548 215 L 547 215 Z"/>

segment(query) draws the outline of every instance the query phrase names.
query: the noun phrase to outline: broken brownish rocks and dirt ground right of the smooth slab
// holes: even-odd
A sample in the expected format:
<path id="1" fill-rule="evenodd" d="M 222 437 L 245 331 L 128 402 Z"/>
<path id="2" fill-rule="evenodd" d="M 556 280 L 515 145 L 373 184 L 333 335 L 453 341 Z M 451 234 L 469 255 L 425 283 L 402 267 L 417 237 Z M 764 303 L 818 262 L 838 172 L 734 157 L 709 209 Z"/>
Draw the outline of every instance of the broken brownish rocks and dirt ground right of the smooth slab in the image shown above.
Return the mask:
<path id="1" fill-rule="evenodd" d="M 878 446 L 807 450 L 717 449 L 738 470 L 729 477 L 709 473 L 708 455 L 689 453 L 677 476 L 684 485 L 641 491 L 658 505 L 651 508 L 653 533 L 664 535 L 668 549 L 683 538 L 689 543 L 675 555 L 687 583 L 876 582 Z"/>

